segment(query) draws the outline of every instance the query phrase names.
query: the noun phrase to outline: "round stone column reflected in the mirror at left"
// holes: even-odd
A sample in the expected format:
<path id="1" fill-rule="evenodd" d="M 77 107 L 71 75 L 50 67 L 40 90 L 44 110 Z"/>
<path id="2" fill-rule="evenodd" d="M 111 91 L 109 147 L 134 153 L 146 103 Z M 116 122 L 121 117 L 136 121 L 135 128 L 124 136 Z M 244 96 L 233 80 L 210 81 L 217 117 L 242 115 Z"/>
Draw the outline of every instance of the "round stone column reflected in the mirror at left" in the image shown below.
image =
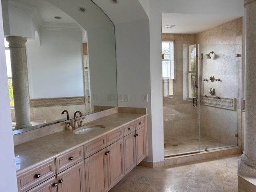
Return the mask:
<path id="1" fill-rule="evenodd" d="M 21 129 L 31 126 L 25 46 L 27 39 L 24 37 L 9 36 L 6 37 L 6 40 L 9 42 L 12 66 L 15 128 Z"/>

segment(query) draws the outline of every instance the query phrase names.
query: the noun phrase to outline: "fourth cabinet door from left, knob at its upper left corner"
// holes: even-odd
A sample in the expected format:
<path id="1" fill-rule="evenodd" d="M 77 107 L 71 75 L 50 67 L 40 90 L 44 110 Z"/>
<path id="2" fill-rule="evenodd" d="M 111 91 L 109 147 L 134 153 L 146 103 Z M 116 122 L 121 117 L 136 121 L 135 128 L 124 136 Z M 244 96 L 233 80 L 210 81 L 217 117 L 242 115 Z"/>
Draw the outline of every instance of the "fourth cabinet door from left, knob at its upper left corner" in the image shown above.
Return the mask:
<path id="1" fill-rule="evenodd" d="M 123 138 L 107 148 L 109 189 L 124 177 Z"/>

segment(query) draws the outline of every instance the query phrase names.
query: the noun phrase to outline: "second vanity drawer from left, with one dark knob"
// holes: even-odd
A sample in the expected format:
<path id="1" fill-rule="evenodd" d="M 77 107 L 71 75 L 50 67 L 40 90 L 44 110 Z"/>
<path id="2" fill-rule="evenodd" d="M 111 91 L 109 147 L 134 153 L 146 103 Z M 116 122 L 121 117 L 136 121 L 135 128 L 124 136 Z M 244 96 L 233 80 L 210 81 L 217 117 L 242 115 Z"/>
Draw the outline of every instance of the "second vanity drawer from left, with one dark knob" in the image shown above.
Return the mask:
<path id="1" fill-rule="evenodd" d="M 56 158 L 57 173 L 64 171 L 72 165 L 84 160 L 84 148 L 80 146 Z"/>

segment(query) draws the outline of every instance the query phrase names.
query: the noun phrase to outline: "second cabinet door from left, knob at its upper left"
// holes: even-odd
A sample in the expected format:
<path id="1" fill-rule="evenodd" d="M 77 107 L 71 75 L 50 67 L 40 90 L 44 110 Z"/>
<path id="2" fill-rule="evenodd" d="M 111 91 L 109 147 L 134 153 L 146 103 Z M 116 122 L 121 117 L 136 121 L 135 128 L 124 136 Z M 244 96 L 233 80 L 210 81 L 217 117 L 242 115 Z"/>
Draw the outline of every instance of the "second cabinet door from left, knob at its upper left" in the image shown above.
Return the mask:
<path id="1" fill-rule="evenodd" d="M 85 192 L 84 161 L 57 174 L 58 192 Z"/>

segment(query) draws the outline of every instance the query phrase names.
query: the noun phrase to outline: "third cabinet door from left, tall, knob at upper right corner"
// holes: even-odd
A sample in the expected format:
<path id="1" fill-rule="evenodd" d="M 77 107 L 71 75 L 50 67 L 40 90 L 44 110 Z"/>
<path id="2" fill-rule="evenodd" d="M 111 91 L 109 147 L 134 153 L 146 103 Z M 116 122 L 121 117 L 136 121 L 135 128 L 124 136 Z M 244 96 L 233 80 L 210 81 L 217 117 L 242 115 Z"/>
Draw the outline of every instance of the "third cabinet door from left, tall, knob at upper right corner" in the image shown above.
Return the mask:
<path id="1" fill-rule="evenodd" d="M 108 167 L 106 148 L 86 158 L 86 192 L 108 191 Z"/>

